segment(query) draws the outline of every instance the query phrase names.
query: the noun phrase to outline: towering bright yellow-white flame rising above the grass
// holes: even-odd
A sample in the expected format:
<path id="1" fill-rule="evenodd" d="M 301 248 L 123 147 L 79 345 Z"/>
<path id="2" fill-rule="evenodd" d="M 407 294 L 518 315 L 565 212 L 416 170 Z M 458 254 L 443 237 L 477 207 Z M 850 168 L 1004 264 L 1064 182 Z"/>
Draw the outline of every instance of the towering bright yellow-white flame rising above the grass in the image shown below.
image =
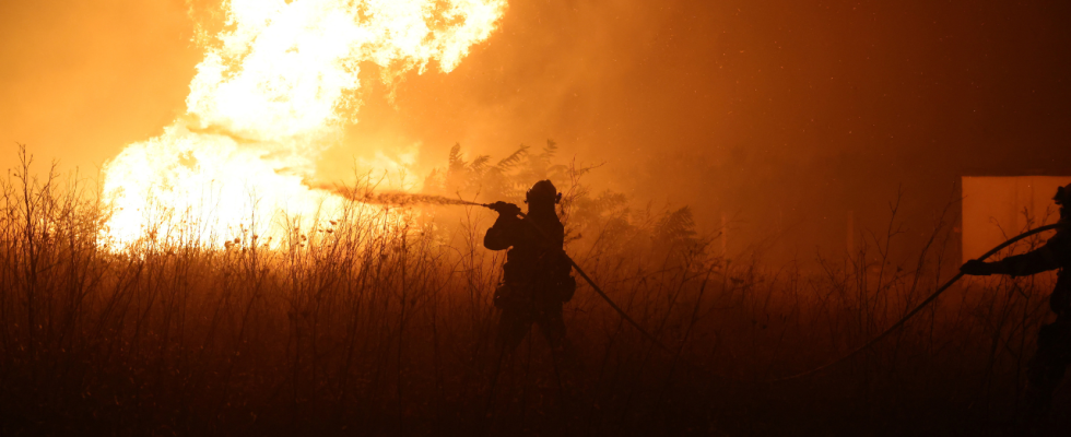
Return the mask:
<path id="1" fill-rule="evenodd" d="M 283 232 L 281 217 L 339 208 L 342 198 L 303 179 L 353 120 L 362 62 L 385 82 L 433 60 L 449 72 L 494 31 L 505 1 L 231 0 L 187 114 L 105 165 L 115 206 L 105 237 L 121 245 L 183 229 L 219 244 L 240 228 L 271 236 Z M 381 153 L 374 161 L 405 165 Z"/>

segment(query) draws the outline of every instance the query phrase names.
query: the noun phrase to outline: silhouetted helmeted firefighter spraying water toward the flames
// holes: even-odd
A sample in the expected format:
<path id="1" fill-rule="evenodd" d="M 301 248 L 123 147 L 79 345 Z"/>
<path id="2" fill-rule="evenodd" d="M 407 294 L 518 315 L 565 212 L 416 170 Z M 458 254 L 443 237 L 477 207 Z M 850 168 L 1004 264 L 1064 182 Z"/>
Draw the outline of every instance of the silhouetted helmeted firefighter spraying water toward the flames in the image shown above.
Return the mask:
<path id="1" fill-rule="evenodd" d="M 554 184 L 540 180 L 526 194 L 528 214 L 523 218 L 513 203 L 491 205 L 498 220 L 487 229 L 483 245 L 491 250 L 509 249 L 494 296 L 495 307 L 502 310 L 498 342 L 504 352 L 516 350 L 533 323 L 555 351 L 568 349 L 562 305 L 573 298 L 576 280 L 563 249 L 565 228 L 554 211 L 561 199 Z"/>

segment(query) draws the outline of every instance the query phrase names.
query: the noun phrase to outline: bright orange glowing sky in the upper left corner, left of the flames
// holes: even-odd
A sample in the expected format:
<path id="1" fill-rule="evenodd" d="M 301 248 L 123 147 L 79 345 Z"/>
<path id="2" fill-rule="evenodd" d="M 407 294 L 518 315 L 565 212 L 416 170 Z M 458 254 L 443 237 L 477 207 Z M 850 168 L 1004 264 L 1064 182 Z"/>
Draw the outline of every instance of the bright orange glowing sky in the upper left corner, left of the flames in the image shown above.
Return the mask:
<path id="1" fill-rule="evenodd" d="M 185 109 L 200 50 L 180 0 L 0 5 L 0 142 L 95 172 Z"/>

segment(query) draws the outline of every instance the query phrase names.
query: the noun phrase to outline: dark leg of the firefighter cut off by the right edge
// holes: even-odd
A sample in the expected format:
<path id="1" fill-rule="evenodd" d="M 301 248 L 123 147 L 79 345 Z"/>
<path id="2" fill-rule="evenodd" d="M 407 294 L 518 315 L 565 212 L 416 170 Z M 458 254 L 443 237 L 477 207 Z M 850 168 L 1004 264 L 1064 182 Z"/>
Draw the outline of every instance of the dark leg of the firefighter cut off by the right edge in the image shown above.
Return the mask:
<path id="1" fill-rule="evenodd" d="M 1027 368 L 1026 424 L 1043 426 L 1056 391 L 1071 364 L 1071 320 L 1060 318 L 1037 333 L 1037 352 Z"/>

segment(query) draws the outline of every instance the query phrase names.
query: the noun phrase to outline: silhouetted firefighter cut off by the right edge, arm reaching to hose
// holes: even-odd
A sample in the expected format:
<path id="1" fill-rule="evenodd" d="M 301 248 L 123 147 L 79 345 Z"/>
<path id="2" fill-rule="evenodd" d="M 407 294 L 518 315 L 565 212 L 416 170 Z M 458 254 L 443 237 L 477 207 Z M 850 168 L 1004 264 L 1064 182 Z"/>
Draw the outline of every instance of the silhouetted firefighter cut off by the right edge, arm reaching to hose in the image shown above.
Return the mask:
<path id="1" fill-rule="evenodd" d="M 1047 415 L 1056 391 L 1068 365 L 1071 365 L 1071 185 L 1060 187 L 1052 198 L 1060 206 L 1062 226 L 1046 244 L 1027 253 L 1004 258 L 997 262 L 970 260 L 960 268 L 964 274 L 1008 274 L 1024 276 L 1060 269 L 1056 287 L 1049 296 L 1049 308 L 1056 312 L 1052 323 L 1041 327 L 1037 333 L 1037 352 L 1027 369 L 1026 417 L 1039 425 Z"/>

